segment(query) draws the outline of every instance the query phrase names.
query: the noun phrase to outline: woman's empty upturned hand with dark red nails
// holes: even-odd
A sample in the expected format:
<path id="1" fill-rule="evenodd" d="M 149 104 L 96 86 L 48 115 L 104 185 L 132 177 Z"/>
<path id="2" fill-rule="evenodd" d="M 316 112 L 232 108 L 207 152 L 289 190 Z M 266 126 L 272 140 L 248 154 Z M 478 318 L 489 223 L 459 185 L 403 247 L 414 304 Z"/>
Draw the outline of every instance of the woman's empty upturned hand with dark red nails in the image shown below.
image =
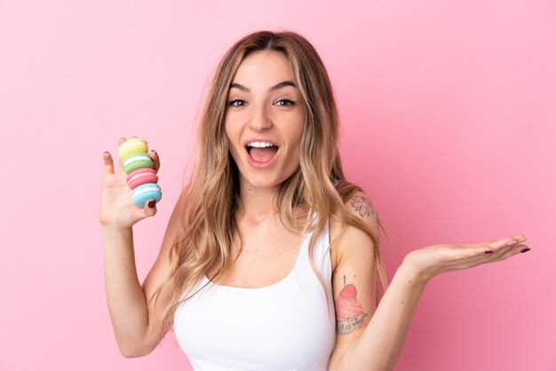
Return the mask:
<path id="1" fill-rule="evenodd" d="M 457 271 L 479 264 L 500 262 L 508 257 L 528 251 L 521 234 L 498 241 L 470 244 L 441 244 L 411 251 L 404 259 L 418 277 L 425 281 L 443 272 Z"/>

